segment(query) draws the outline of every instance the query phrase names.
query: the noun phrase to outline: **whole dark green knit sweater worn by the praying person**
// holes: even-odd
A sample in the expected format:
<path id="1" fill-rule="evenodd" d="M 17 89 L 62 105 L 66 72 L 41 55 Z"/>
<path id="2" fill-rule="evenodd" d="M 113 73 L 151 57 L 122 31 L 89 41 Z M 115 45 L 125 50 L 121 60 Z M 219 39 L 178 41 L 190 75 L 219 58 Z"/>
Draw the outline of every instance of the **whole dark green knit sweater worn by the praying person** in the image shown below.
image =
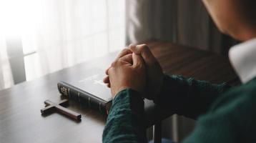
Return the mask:
<path id="1" fill-rule="evenodd" d="M 166 112 L 197 119 L 184 143 L 256 142 L 256 79 L 229 88 L 166 76 L 162 94 L 154 102 Z M 124 89 L 117 94 L 103 142 L 147 142 L 144 102 L 138 92 Z"/>

